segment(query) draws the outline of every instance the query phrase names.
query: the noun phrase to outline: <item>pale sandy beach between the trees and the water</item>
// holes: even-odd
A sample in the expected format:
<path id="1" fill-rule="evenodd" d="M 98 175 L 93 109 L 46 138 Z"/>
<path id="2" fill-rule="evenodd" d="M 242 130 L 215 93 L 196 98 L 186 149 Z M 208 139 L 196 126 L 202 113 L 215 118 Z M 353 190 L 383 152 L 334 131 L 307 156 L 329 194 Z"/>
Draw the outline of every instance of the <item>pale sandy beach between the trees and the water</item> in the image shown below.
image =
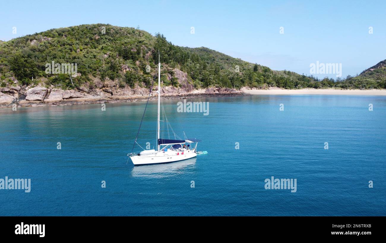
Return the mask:
<path id="1" fill-rule="evenodd" d="M 386 90 L 337 90 L 305 88 L 301 90 L 282 90 L 273 88 L 270 90 L 243 90 L 251 95 L 386 95 Z"/>

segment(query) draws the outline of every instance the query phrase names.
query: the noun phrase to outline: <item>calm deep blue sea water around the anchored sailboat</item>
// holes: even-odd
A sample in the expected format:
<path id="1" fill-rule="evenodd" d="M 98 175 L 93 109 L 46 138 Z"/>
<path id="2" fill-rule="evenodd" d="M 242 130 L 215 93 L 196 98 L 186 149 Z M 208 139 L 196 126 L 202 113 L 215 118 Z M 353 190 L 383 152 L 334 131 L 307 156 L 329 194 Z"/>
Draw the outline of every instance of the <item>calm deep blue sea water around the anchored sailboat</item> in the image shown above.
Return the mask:
<path id="1" fill-rule="evenodd" d="M 0 215 L 386 215 L 386 97 L 190 100 L 208 116 L 179 101 L 163 102 L 174 131 L 209 153 L 135 167 L 144 102 L 0 109 L 0 178 L 31 178 L 30 193 L 0 190 Z M 154 146 L 155 102 L 139 137 Z M 271 176 L 296 178 L 296 193 L 266 190 Z"/>

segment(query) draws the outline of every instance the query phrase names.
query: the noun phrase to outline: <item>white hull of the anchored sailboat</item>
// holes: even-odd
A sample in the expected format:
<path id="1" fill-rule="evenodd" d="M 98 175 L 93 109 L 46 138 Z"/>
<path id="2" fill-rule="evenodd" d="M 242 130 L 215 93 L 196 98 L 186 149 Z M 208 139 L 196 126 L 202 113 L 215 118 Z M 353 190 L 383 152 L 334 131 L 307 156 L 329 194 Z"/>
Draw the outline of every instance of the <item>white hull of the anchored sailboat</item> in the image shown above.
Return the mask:
<path id="1" fill-rule="evenodd" d="M 193 150 L 168 150 L 166 152 L 159 151 L 158 153 L 151 155 L 134 155 L 130 156 L 130 159 L 134 165 L 151 165 L 187 160 L 196 156 L 197 154 Z"/>

